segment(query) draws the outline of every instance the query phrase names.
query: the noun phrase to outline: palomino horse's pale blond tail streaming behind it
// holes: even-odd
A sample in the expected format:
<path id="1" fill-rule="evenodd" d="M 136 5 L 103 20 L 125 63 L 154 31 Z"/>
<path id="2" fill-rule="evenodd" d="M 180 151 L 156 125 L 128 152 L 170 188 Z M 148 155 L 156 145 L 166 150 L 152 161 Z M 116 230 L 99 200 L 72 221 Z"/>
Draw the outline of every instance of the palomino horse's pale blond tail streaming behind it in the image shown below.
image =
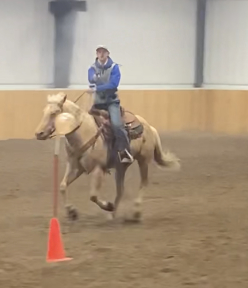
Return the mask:
<path id="1" fill-rule="evenodd" d="M 154 159 L 158 166 L 161 168 L 180 170 L 180 159 L 169 151 L 167 151 L 166 153 L 163 151 L 158 131 L 152 126 L 151 129 L 155 137 Z"/>

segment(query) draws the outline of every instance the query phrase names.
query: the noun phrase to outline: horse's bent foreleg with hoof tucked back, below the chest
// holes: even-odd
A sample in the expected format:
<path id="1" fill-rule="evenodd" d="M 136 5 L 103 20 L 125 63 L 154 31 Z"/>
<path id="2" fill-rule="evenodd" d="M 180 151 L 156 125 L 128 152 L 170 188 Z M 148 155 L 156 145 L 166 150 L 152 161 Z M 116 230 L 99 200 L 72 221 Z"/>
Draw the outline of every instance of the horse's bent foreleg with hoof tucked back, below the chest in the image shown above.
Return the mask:
<path id="1" fill-rule="evenodd" d="M 113 211 L 114 207 L 112 203 L 102 201 L 98 198 L 98 192 L 101 188 L 103 175 L 103 170 L 99 166 L 96 166 L 92 171 L 90 200 L 98 205 L 102 210 Z"/>

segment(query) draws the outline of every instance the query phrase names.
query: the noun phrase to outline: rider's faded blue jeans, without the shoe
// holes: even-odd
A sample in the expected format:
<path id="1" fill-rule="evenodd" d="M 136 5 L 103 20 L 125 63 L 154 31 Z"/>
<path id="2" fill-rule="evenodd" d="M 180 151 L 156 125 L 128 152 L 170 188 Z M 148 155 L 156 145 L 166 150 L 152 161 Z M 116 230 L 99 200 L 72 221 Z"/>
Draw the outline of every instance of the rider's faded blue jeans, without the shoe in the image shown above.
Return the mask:
<path id="1" fill-rule="evenodd" d="M 97 104 L 94 105 L 96 109 L 107 110 L 110 116 L 110 121 L 115 136 L 115 152 L 124 151 L 127 149 L 130 151 L 130 142 L 128 138 L 128 133 L 121 121 L 120 115 L 120 104 L 119 101 L 112 102 L 109 104 Z"/>

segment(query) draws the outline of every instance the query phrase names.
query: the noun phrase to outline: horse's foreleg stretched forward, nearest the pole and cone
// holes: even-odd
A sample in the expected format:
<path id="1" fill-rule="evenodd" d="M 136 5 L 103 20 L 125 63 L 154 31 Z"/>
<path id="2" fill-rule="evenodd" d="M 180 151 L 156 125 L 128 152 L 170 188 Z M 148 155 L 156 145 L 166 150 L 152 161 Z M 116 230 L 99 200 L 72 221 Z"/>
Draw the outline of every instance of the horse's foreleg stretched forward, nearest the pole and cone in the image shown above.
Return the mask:
<path id="1" fill-rule="evenodd" d="M 64 177 L 60 183 L 60 193 L 63 197 L 64 207 L 68 217 L 72 220 L 77 219 L 78 214 L 76 209 L 68 203 L 68 186 L 76 180 L 82 173 L 84 169 L 76 160 L 69 160 L 66 163 L 66 169 Z"/>

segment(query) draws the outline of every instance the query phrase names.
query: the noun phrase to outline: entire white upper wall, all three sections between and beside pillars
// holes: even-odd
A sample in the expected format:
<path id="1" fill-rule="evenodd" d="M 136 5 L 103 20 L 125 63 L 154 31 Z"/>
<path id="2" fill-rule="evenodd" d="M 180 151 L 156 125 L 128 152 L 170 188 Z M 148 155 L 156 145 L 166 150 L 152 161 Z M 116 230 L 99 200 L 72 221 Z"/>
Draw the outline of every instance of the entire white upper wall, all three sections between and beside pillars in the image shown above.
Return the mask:
<path id="1" fill-rule="evenodd" d="M 49 0 L 0 1 L 0 85 L 53 81 Z M 77 14 L 71 83 L 106 44 L 122 85 L 192 84 L 196 0 L 88 0 Z M 248 85 L 248 0 L 207 0 L 205 84 Z M 4 86 L 5 87 L 5 86 Z"/>

